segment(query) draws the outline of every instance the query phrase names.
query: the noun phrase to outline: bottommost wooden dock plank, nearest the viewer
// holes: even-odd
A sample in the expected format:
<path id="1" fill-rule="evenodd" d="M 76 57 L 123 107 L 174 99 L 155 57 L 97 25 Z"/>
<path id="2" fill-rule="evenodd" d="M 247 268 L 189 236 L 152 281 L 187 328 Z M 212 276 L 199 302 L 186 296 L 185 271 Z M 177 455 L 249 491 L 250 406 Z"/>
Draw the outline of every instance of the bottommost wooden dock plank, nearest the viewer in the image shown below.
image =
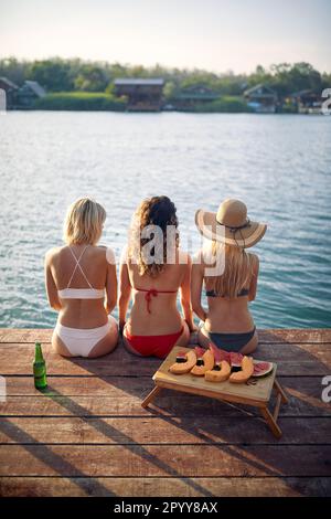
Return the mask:
<path id="1" fill-rule="evenodd" d="M 0 496 L 11 497 L 330 497 L 330 477 L 0 477 Z"/>

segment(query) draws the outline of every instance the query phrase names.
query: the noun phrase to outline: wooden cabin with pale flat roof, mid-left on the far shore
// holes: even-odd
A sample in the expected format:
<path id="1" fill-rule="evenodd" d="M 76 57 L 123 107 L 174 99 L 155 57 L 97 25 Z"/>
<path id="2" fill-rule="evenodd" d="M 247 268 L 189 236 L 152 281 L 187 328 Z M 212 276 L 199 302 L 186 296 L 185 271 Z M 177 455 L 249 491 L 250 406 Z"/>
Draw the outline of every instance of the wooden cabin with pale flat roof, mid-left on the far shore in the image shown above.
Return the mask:
<path id="1" fill-rule="evenodd" d="M 159 112 L 163 104 L 164 80 L 152 78 L 118 78 L 114 82 L 115 94 L 128 98 L 129 112 Z"/>

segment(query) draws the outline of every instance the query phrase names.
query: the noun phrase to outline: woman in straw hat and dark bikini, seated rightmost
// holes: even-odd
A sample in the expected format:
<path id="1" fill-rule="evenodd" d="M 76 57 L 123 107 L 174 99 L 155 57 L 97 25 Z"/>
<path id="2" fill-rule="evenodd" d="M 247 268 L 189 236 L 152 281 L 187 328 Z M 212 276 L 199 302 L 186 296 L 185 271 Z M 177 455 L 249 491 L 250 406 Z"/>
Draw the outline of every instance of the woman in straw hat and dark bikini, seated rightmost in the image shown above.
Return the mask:
<path id="1" fill-rule="evenodd" d="M 246 248 L 264 236 L 267 225 L 250 221 L 246 205 L 233 199 L 225 200 L 217 213 L 196 211 L 195 223 L 207 240 L 192 269 L 192 306 L 203 321 L 199 342 L 250 353 L 258 338 L 248 303 L 256 296 L 259 261 Z M 201 305 L 203 284 L 207 311 Z"/>

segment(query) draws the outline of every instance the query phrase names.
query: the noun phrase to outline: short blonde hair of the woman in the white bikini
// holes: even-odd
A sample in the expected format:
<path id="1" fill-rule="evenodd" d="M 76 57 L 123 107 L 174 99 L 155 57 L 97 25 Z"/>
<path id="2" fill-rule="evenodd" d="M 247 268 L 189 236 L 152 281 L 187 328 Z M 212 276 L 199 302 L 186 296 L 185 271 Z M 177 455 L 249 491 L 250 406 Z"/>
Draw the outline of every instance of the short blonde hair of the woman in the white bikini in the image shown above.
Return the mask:
<path id="1" fill-rule="evenodd" d="M 68 208 L 64 221 L 65 243 L 88 243 L 95 245 L 102 236 L 106 220 L 105 209 L 87 197 L 76 200 Z"/>

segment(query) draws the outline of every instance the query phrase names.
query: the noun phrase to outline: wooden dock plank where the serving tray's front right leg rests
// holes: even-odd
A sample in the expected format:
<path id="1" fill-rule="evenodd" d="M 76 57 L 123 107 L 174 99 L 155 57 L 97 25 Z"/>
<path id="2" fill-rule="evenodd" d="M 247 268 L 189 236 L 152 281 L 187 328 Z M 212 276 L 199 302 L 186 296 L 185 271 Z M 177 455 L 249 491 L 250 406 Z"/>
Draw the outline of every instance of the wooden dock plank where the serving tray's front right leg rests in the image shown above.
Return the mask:
<path id="1" fill-rule="evenodd" d="M 281 421 L 275 439 L 261 420 L 241 416 L 9 417 L 0 419 L 0 444 L 331 444 L 331 416 Z"/>

